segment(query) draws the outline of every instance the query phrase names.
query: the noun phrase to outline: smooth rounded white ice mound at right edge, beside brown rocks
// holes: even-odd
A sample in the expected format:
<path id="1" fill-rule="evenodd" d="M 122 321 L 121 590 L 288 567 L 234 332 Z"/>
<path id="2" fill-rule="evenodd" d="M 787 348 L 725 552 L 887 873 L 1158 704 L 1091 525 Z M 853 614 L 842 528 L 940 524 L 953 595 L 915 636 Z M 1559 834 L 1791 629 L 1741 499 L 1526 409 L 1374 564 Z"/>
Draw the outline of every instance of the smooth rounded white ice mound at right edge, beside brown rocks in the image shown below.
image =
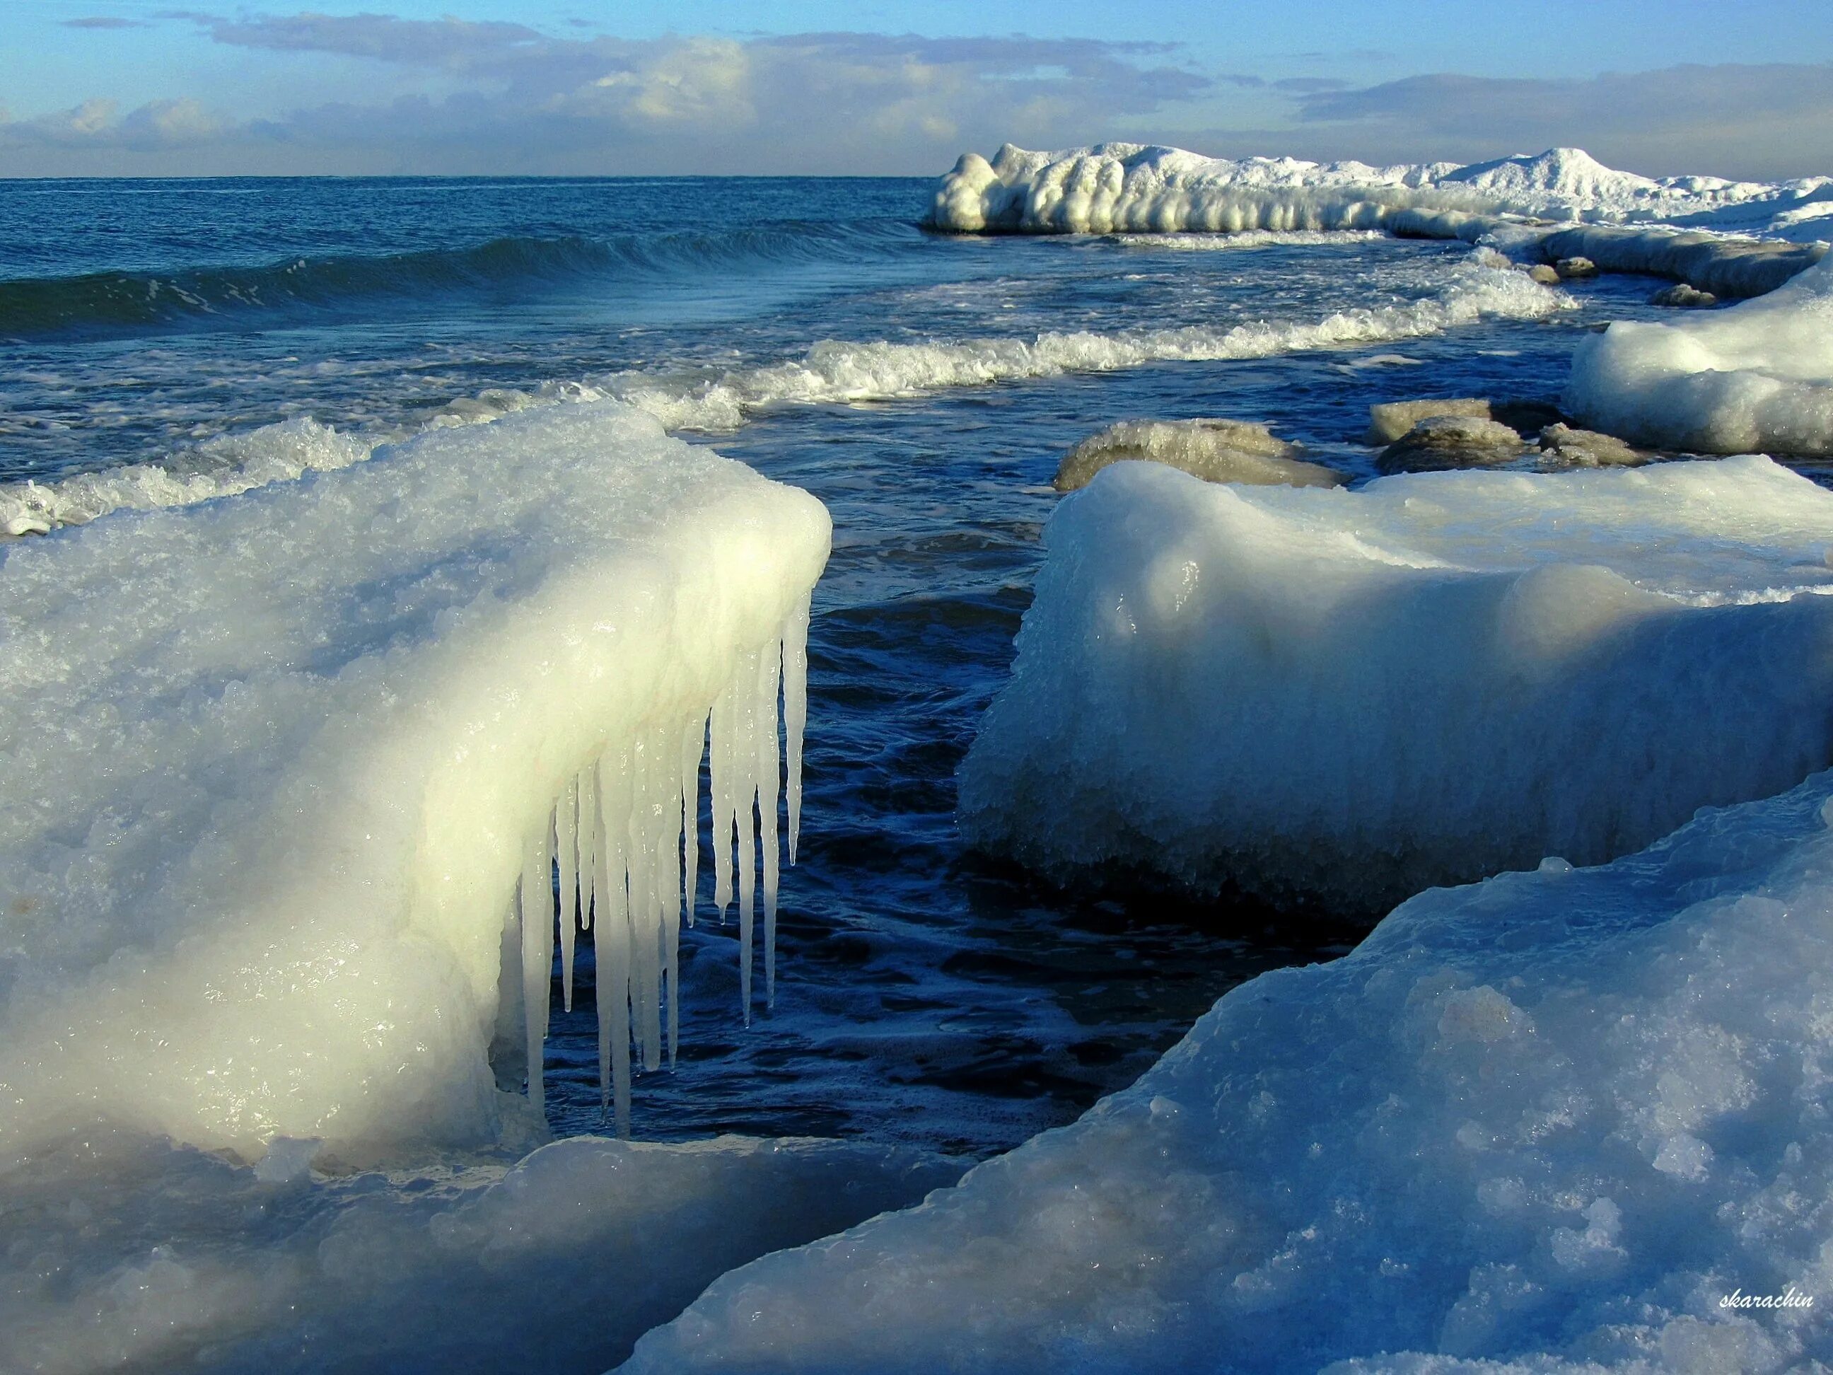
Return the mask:
<path id="1" fill-rule="evenodd" d="M 1833 258 L 1756 301 L 1584 339 L 1565 409 L 1668 449 L 1833 453 Z"/>

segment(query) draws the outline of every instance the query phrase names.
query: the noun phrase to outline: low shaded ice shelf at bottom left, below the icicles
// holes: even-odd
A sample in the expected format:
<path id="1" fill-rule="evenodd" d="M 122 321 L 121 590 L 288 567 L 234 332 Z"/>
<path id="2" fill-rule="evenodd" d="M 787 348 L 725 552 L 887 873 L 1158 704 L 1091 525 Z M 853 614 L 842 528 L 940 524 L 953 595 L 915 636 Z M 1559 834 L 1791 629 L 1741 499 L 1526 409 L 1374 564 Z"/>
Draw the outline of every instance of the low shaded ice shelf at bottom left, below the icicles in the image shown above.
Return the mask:
<path id="1" fill-rule="evenodd" d="M 31 1238 L 0 1248 L 0 1370 L 601 1371 L 733 1265 L 959 1175 L 865 1142 L 574 1137 L 510 1168 L 262 1179 L 90 1135 L 0 1177 L 7 1239 Z"/>

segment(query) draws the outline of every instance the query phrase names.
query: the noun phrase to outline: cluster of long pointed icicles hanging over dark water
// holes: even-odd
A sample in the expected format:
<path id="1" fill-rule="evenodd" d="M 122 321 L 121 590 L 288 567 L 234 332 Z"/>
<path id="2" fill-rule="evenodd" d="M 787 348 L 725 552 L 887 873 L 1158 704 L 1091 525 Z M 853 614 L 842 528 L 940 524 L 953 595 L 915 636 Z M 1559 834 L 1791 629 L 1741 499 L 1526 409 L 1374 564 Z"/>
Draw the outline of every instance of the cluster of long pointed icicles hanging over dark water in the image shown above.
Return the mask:
<path id="1" fill-rule="evenodd" d="M 631 1050 L 658 1069 L 667 1023 L 669 1067 L 680 1032 L 678 950 L 693 926 L 700 869 L 700 763 L 711 744 L 713 902 L 720 920 L 739 904 L 739 986 L 752 1021 L 755 893 L 763 889 L 764 990 L 777 990 L 779 719 L 788 794 L 788 858 L 801 830 L 801 746 L 808 719 L 808 603 L 779 640 L 741 653 L 709 713 L 649 724 L 612 742 L 568 781 L 548 825 L 524 849 L 511 902 L 521 924 L 528 1096 L 544 1111 L 543 1045 L 554 970 L 554 896 L 559 880 L 561 988 L 572 1010 L 574 933 L 592 931 L 598 957 L 598 1085 L 616 1104 L 618 1135 L 631 1133 Z M 761 860 L 761 864 L 759 864 Z M 759 869 L 763 878 L 759 884 Z"/>

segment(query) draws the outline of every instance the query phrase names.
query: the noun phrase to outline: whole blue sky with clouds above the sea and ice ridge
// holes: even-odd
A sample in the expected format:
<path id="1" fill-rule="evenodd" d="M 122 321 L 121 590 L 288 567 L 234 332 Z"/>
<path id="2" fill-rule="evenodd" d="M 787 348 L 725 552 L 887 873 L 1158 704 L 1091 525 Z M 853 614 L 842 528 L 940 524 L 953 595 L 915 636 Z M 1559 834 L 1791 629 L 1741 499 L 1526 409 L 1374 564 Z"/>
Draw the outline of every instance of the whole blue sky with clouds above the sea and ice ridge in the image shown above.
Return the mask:
<path id="1" fill-rule="evenodd" d="M 935 176 L 1102 139 L 1833 174 L 1833 0 L 372 4 L 4 0 L 0 176 Z"/>

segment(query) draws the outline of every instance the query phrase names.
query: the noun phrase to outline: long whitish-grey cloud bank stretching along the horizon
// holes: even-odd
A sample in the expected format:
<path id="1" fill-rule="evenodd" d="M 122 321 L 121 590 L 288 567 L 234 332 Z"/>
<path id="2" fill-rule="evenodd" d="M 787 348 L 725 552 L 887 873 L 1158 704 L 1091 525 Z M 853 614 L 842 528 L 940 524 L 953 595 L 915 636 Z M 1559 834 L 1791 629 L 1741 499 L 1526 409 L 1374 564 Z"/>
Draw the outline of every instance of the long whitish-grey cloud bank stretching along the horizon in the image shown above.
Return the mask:
<path id="1" fill-rule="evenodd" d="M 1474 161 L 1580 145 L 1642 172 L 1833 172 L 1833 66 L 1586 79 L 1202 72 L 1175 44 L 801 33 L 554 37 L 504 20 L 163 11 L 247 53 L 260 116 L 178 94 L 0 112 L 0 174 L 935 174 L 1003 141 Z M 64 20 L 108 33 L 141 20 Z M 326 64 L 361 99 L 317 95 Z M 348 84 L 348 82 L 346 82 Z M 317 95 L 317 99 L 315 99 Z"/>

